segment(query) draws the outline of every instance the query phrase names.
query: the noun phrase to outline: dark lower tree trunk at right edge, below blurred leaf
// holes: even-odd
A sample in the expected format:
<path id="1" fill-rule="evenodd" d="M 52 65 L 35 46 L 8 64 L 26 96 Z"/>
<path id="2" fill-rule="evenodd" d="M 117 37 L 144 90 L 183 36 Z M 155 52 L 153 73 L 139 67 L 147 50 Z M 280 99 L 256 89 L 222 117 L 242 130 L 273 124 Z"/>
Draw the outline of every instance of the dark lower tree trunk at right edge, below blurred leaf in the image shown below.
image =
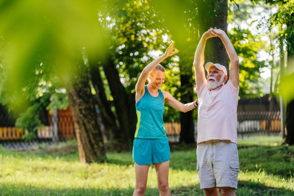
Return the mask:
<path id="1" fill-rule="evenodd" d="M 294 100 L 287 105 L 285 143 L 294 145 Z"/>

